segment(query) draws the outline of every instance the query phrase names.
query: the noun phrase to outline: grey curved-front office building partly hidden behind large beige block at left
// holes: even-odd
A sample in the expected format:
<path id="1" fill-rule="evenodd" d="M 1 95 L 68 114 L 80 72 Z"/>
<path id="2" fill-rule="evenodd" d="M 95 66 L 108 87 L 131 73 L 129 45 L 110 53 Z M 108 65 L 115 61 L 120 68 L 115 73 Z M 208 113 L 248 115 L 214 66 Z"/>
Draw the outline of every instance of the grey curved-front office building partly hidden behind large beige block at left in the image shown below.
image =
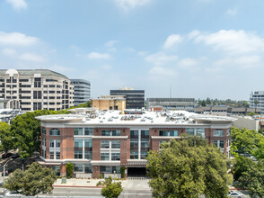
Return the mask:
<path id="1" fill-rule="evenodd" d="M 80 103 L 87 103 L 91 98 L 91 83 L 83 79 L 71 79 L 74 85 L 75 106 Z"/>

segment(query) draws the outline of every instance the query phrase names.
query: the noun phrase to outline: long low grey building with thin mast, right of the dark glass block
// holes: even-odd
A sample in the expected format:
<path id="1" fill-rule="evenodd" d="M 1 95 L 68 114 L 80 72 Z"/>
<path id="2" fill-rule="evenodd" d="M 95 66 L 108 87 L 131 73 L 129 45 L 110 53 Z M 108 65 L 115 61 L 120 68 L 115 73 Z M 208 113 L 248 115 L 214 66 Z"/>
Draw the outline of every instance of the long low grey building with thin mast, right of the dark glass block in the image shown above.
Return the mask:
<path id="1" fill-rule="evenodd" d="M 194 98 L 147 98 L 146 108 L 162 107 L 163 110 L 185 110 L 194 112 Z"/>

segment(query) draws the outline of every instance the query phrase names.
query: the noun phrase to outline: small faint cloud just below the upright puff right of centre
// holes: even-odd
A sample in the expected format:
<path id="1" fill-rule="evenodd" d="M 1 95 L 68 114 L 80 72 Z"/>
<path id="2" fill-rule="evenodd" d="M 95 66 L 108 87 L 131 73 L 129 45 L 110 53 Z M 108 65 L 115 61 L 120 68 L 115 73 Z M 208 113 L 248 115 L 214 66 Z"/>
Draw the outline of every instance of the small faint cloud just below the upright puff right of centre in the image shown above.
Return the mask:
<path id="1" fill-rule="evenodd" d="M 163 52 L 157 52 L 155 54 L 145 57 L 145 61 L 153 63 L 154 65 L 163 65 L 167 62 L 172 62 L 177 59 L 178 57 L 176 55 L 169 56 Z"/>

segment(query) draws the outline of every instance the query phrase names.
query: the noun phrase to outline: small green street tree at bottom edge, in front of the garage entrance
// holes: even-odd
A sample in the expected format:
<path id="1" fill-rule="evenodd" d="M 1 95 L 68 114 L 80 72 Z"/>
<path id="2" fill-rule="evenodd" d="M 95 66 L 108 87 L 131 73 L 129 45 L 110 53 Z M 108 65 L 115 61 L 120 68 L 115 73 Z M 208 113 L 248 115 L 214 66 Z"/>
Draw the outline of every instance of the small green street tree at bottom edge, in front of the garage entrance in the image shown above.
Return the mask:
<path id="1" fill-rule="evenodd" d="M 123 191 L 121 182 L 112 182 L 111 176 L 105 179 L 106 186 L 101 189 L 101 196 L 106 198 L 118 198 L 119 194 Z"/>

